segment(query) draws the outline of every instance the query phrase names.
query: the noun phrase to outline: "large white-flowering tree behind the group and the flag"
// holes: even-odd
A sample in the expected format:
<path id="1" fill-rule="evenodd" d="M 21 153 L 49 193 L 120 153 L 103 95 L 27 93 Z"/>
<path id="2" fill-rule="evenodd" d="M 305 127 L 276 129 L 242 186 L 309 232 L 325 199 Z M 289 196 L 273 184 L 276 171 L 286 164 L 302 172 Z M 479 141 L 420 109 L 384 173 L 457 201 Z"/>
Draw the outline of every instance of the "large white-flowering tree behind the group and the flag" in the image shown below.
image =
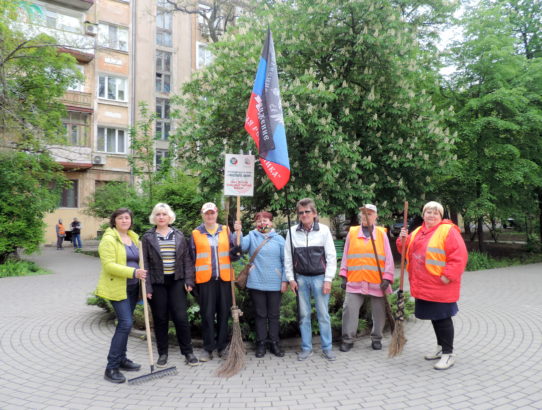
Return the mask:
<path id="1" fill-rule="evenodd" d="M 417 27 L 389 1 L 280 1 L 239 20 L 212 47 L 212 65 L 183 88 L 178 154 L 204 192 L 219 192 L 223 154 L 254 151 L 243 124 L 267 24 L 273 29 L 291 197 L 315 197 L 324 213 L 383 214 L 405 198 L 421 203 L 432 175 L 452 159 L 454 136 L 432 103 Z M 257 169 L 252 206 L 283 209 Z"/>

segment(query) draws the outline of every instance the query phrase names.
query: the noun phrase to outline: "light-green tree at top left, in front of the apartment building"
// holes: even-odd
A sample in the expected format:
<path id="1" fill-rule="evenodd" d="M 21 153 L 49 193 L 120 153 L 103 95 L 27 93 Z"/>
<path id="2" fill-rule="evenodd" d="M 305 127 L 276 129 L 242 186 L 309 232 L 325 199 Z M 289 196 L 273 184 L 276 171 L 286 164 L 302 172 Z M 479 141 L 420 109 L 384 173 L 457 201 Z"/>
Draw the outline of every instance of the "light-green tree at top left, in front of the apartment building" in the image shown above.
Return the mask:
<path id="1" fill-rule="evenodd" d="M 3 147 L 39 151 L 65 141 L 59 99 L 81 75 L 52 37 L 29 38 L 15 25 L 19 3 L 0 2 L 0 138 Z"/>

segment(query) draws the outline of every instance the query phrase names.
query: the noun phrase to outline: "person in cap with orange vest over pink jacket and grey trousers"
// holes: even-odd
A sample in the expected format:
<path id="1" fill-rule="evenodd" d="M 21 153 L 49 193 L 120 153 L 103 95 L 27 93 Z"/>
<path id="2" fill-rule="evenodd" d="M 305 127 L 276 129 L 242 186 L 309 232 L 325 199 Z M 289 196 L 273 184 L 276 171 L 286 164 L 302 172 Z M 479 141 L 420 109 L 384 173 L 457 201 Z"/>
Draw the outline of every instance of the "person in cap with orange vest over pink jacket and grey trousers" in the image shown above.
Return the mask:
<path id="1" fill-rule="evenodd" d="M 366 204 L 360 210 L 361 226 L 353 226 L 348 232 L 339 273 L 343 280 L 341 287 L 346 290 L 341 352 L 348 352 L 354 345 L 359 310 L 366 298 L 371 299 L 373 316 L 371 346 L 374 350 L 382 349 L 382 331 L 386 324 L 384 292 L 392 292 L 390 283 L 395 271 L 386 230 L 375 225 L 378 217 L 376 206 Z M 375 257 L 370 233 L 378 258 Z M 382 271 L 382 281 L 377 263 Z"/>

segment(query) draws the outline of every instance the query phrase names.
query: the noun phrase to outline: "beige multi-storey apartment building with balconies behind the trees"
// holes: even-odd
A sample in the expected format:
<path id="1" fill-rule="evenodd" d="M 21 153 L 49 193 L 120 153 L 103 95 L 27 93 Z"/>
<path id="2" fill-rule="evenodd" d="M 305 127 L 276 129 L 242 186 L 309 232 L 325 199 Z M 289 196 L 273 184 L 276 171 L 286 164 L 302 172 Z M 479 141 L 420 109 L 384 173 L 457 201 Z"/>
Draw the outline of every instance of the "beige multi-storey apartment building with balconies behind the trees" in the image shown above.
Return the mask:
<path id="1" fill-rule="evenodd" d="M 156 109 L 159 166 L 175 127 L 171 95 L 211 56 L 196 15 L 175 12 L 166 0 L 29 3 L 32 7 L 21 7 L 25 30 L 55 37 L 84 75 L 63 99 L 68 144 L 49 147 L 72 185 L 63 192 L 59 208 L 45 218 L 46 241 L 54 243 L 58 219 L 68 226 L 77 217 L 84 246 L 104 222 L 84 213 L 89 196 L 111 181 L 133 182 L 129 130 L 139 119 L 139 103 Z"/>

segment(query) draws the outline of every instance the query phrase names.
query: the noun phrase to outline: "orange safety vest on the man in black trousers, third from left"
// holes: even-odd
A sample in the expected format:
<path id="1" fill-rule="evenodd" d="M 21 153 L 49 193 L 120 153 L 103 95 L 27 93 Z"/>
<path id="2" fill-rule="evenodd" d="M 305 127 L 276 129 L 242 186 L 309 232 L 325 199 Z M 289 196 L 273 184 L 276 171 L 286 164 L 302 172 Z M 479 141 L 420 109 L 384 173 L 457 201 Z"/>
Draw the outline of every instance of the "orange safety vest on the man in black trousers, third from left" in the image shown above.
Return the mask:
<path id="1" fill-rule="evenodd" d="M 197 229 L 192 231 L 192 237 L 196 245 L 196 283 L 209 282 L 213 272 L 209 238 L 207 238 L 207 234 L 201 233 Z M 231 280 L 231 265 L 230 239 L 227 229 L 222 229 L 218 233 L 218 265 L 220 279 L 229 282 Z"/>

